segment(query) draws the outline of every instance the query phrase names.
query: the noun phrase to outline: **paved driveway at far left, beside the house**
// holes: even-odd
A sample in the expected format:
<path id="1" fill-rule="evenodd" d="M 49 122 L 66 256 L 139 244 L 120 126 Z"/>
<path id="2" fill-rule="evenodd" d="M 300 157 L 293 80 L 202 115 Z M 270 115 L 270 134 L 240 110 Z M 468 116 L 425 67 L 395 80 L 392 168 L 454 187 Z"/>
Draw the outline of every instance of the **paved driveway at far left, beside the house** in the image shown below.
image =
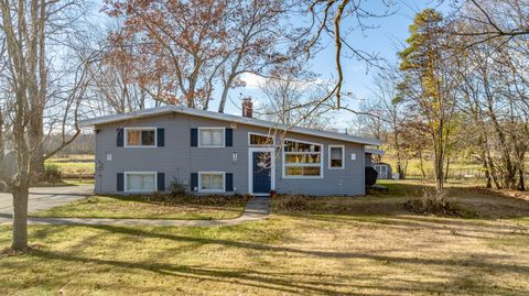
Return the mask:
<path id="1" fill-rule="evenodd" d="M 30 213 L 57 207 L 85 198 L 94 193 L 94 185 L 34 187 L 30 189 Z M 13 197 L 11 194 L 0 194 L 0 224 L 11 222 L 13 215 Z"/>

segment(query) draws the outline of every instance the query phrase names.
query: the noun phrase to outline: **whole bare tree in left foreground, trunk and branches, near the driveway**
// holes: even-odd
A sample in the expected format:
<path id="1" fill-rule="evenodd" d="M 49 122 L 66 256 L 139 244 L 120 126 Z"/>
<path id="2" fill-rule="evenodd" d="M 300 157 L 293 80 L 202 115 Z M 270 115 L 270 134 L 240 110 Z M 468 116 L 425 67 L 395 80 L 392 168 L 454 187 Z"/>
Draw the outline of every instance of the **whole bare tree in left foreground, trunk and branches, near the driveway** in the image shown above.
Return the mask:
<path id="1" fill-rule="evenodd" d="M 79 59 L 68 61 L 76 65 L 74 77 L 63 76 L 64 85 L 56 85 L 55 79 L 50 79 L 50 56 L 48 50 L 52 46 L 48 41 L 51 32 L 66 34 L 72 29 L 72 20 L 65 15 L 65 10 L 75 8 L 72 1 L 44 1 L 44 0 L 19 0 L 10 2 L 0 0 L 1 31 L 4 32 L 6 68 L 8 74 L 4 77 L 3 106 L 6 106 L 6 118 L 3 118 L 4 142 L 12 146 L 14 155 L 13 174 L 2 174 L 8 185 L 8 190 L 13 195 L 13 240 L 12 249 L 24 251 L 28 248 L 28 197 L 31 176 L 35 171 L 32 160 L 43 156 L 43 143 L 41 138 L 43 131 L 37 130 L 40 122 L 44 122 L 44 114 L 56 117 L 61 114 L 63 131 L 62 143 L 52 150 L 50 157 L 64 147 L 71 140 L 66 139 L 65 129 L 67 120 L 76 125 L 79 101 L 83 98 L 86 87 L 85 56 L 77 56 Z M 62 13 L 65 14 L 62 14 Z M 55 18 L 56 17 L 56 18 Z M 65 22 L 63 22 L 65 21 Z M 67 25 L 69 24 L 69 26 Z M 63 26 L 64 25 L 64 26 Z M 69 32 L 72 33 L 72 32 Z M 69 36 L 71 37 L 71 36 Z M 54 44 L 56 45 L 56 44 Z M 61 47 L 64 52 L 66 47 Z M 55 47 L 55 50 L 60 50 Z M 76 64 L 83 57 L 83 63 Z M 80 75 L 79 75 L 80 74 Z M 58 78 L 58 77 L 56 77 Z M 72 88 L 65 90 L 62 86 L 68 85 Z M 54 88 L 57 86 L 58 88 Z M 64 90 L 61 95 L 55 89 Z M 8 96 L 6 96 L 8 94 Z M 44 109 L 46 99 L 63 98 L 61 106 L 55 110 Z M 43 107 L 44 106 L 44 107 Z M 36 125 L 34 122 L 39 122 Z M 53 123 L 53 122 L 52 122 Z M 43 124 L 40 125 L 43 129 Z M 51 131 L 61 128 L 50 127 Z M 75 134 L 74 134 L 75 138 Z M 3 144 L 3 143 L 2 143 Z M 46 156 L 44 156 L 46 157 Z M 0 164 L 3 165 L 3 164 Z M 6 172 L 2 172 L 6 173 Z"/>

